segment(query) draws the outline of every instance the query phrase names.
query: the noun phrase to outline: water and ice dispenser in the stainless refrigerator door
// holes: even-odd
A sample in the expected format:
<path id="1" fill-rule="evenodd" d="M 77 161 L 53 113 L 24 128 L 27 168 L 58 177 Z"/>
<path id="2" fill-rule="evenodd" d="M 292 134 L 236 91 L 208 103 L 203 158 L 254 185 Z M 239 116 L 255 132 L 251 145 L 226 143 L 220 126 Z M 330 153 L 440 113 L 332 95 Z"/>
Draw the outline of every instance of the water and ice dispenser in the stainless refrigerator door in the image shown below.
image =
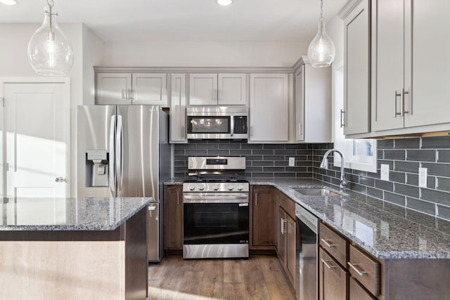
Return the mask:
<path id="1" fill-rule="evenodd" d="M 86 187 L 110 185 L 108 155 L 106 150 L 86 151 Z"/>

